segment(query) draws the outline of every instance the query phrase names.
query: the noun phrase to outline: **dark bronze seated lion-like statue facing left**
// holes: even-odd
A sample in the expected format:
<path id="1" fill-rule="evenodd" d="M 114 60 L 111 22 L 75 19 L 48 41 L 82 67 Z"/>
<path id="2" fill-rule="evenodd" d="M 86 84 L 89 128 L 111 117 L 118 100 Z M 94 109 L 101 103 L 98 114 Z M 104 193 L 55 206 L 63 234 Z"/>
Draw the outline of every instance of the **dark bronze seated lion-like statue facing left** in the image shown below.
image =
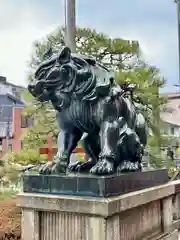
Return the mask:
<path id="1" fill-rule="evenodd" d="M 141 171 L 147 128 L 132 100 L 133 87 L 121 88 L 106 67 L 68 47 L 56 55 L 47 51 L 34 78 L 30 93 L 51 102 L 60 128 L 58 153 L 41 167 L 41 174 Z M 84 133 L 82 145 L 89 159 L 70 164 Z"/>

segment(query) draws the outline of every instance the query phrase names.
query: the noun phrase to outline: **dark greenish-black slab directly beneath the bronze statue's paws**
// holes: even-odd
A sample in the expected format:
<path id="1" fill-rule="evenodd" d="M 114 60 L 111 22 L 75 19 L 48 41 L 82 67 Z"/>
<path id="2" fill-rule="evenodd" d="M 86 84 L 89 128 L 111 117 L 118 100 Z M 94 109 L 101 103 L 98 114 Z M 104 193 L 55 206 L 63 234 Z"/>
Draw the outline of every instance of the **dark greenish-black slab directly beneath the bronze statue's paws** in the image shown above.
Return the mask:
<path id="1" fill-rule="evenodd" d="M 102 198 L 118 196 L 167 182 L 168 173 L 165 169 L 103 177 L 83 174 L 39 175 L 28 173 L 23 175 L 23 191 L 25 193 Z"/>

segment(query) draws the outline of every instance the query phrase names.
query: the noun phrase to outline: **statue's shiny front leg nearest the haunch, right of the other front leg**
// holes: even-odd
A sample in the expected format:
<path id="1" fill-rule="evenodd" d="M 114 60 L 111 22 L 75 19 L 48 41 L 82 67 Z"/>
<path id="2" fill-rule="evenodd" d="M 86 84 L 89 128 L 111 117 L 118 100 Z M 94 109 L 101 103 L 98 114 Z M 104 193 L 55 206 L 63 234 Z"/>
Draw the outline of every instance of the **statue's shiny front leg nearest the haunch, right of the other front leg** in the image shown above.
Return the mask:
<path id="1" fill-rule="evenodd" d="M 101 126 L 101 152 L 90 172 L 97 175 L 113 174 L 116 170 L 116 146 L 119 136 L 118 120 L 105 121 Z"/>

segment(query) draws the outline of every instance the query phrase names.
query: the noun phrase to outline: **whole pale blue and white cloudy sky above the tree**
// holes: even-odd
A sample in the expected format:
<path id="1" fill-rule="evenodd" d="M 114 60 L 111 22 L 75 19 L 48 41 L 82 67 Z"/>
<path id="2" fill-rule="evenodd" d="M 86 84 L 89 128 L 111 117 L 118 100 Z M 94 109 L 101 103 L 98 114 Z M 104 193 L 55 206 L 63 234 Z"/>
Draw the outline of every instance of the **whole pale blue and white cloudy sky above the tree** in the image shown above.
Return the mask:
<path id="1" fill-rule="evenodd" d="M 77 26 L 138 40 L 161 70 L 165 92 L 177 91 L 177 14 L 173 0 L 77 0 Z M 32 44 L 64 24 L 64 0 L 0 0 L 0 75 L 26 85 Z"/>

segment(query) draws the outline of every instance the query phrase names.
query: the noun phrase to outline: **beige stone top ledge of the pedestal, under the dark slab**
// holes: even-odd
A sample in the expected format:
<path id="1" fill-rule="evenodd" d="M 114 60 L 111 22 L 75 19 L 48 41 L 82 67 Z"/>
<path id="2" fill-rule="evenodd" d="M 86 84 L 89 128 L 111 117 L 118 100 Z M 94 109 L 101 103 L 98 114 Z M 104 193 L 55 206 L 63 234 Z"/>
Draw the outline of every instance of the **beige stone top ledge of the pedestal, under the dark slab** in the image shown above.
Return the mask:
<path id="1" fill-rule="evenodd" d="M 172 183 L 109 198 L 19 193 L 17 205 L 36 211 L 69 212 L 108 217 L 174 195 Z"/>

